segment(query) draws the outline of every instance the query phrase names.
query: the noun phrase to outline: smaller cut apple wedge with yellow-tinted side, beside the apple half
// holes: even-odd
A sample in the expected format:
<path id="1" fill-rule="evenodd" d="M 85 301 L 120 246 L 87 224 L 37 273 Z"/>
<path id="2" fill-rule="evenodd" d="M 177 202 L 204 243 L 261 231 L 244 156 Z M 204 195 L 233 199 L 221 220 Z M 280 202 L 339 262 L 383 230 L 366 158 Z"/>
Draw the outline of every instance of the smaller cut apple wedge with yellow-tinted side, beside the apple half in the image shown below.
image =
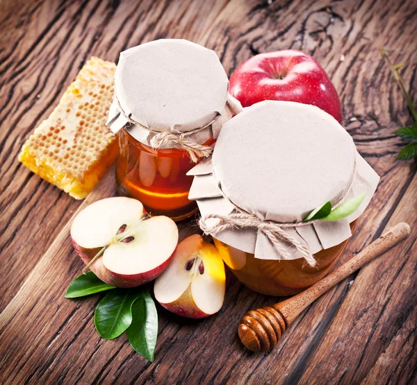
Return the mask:
<path id="1" fill-rule="evenodd" d="M 154 294 L 174 314 L 204 318 L 221 309 L 225 282 L 218 250 L 194 234 L 179 243 L 170 266 L 156 278 Z"/>

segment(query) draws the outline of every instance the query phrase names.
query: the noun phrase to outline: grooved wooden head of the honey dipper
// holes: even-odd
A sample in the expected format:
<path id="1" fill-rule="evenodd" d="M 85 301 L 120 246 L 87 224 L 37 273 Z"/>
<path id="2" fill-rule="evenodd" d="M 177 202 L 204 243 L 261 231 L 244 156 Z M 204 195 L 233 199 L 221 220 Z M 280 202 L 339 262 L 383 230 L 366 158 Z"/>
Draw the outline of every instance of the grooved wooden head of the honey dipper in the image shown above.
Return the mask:
<path id="1" fill-rule="evenodd" d="M 286 329 L 286 323 L 279 311 L 273 307 L 248 311 L 240 320 L 238 334 L 240 341 L 252 352 L 266 352 L 275 345 Z"/>

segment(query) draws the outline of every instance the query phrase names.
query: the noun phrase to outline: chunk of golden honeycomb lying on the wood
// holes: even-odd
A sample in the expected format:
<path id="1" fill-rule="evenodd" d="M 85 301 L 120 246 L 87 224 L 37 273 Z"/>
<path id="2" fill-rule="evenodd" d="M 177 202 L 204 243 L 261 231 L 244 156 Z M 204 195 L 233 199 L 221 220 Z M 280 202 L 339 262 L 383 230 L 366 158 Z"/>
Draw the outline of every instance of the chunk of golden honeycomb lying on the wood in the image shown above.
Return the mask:
<path id="1" fill-rule="evenodd" d="M 106 127 L 115 68 L 88 60 L 19 155 L 28 169 L 76 199 L 90 193 L 117 157 L 116 137 Z"/>

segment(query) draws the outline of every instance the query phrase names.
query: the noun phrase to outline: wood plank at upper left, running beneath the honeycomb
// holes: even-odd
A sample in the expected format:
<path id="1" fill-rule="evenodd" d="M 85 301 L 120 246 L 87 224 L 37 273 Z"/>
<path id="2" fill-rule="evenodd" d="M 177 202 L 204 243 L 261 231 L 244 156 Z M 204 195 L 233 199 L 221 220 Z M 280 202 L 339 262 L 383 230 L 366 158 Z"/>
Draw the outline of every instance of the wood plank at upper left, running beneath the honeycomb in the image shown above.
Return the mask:
<path id="1" fill-rule="evenodd" d="M 227 0 L 20 3 L 0 24 L 0 310 L 81 204 L 19 164 L 26 137 L 91 55 L 117 60 L 158 37 L 199 40 Z"/>

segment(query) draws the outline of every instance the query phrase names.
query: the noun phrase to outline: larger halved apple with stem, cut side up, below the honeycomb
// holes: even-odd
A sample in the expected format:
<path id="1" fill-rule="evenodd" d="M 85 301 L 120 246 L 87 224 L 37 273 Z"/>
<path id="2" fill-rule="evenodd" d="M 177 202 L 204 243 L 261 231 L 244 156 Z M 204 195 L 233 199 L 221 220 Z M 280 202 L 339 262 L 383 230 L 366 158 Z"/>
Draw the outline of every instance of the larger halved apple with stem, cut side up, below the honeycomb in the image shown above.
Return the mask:
<path id="1" fill-rule="evenodd" d="M 72 244 L 102 281 L 134 287 L 154 280 L 170 263 L 178 228 L 167 216 L 149 217 L 133 198 L 98 200 L 81 211 L 71 227 Z"/>

